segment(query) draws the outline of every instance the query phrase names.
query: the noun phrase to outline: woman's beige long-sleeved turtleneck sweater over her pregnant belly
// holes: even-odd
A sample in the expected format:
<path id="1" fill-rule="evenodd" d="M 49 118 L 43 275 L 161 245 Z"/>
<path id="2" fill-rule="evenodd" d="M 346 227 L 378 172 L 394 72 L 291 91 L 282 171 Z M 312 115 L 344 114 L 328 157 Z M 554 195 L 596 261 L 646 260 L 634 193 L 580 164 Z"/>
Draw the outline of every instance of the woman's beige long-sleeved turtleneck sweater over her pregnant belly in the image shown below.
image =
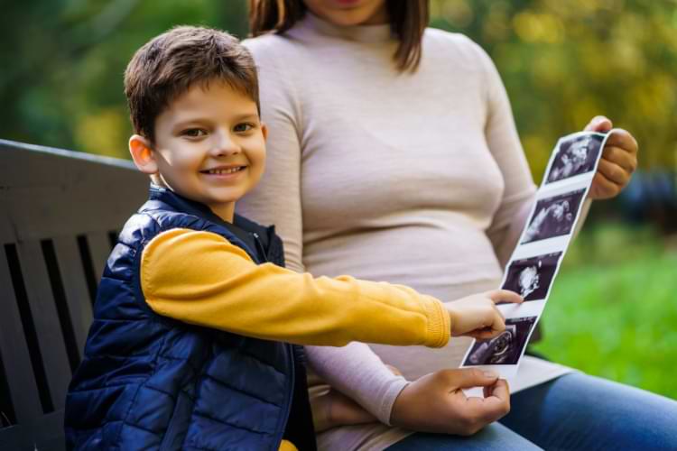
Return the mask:
<path id="1" fill-rule="evenodd" d="M 264 179 L 237 210 L 277 226 L 289 268 L 445 301 L 498 287 L 535 187 L 505 88 L 477 44 L 428 29 L 421 66 L 402 74 L 388 25 L 338 27 L 306 14 L 283 35 L 245 43 L 270 133 Z M 387 423 L 407 380 L 458 367 L 468 343 L 308 354 L 324 380 Z M 525 360 L 514 391 L 567 371 Z M 407 434 L 372 424 L 318 439 L 323 449 L 383 448 Z"/>

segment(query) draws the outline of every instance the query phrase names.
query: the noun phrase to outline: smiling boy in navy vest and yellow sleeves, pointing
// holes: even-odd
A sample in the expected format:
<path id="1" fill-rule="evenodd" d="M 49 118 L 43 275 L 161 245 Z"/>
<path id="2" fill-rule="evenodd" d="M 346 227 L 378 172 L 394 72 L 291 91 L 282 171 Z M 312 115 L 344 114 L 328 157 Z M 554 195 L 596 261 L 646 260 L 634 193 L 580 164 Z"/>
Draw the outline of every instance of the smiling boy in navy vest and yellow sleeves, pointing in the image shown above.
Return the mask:
<path id="1" fill-rule="evenodd" d="M 179 27 L 146 43 L 125 95 L 129 149 L 153 184 L 99 286 L 66 403 L 70 447 L 312 449 L 301 348 L 288 343 L 441 346 L 505 327 L 494 301 L 514 293 L 444 305 L 283 269 L 273 227 L 234 215 L 263 174 L 266 129 L 254 62 L 227 33 Z"/>

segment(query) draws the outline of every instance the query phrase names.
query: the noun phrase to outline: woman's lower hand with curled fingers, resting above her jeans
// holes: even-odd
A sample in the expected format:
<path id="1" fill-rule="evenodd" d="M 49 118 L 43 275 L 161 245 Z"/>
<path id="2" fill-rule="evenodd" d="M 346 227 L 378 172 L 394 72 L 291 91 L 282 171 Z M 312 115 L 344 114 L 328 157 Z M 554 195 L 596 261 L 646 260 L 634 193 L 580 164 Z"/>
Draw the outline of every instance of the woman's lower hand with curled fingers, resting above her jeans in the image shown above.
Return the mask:
<path id="1" fill-rule="evenodd" d="M 485 398 L 461 389 L 484 387 Z M 469 436 L 510 411 L 507 383 L 496 373 L 441 370 L 407 385 L 394 401 L 390 421 L 418 432 Z"/>

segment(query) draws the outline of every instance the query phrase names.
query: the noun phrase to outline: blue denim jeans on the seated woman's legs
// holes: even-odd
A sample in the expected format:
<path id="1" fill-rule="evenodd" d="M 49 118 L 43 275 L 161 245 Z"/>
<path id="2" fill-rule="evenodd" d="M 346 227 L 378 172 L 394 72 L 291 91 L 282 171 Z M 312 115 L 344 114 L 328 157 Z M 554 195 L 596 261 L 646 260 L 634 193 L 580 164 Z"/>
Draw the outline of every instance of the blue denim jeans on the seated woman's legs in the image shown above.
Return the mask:
<path id="1" fill-rule="evenodd" d="M 677 401 L 617 382 L 565 374 L 515 393 L 510 405 L 472 437 L 417 432 L 388 451 L 677 449 Z"/>

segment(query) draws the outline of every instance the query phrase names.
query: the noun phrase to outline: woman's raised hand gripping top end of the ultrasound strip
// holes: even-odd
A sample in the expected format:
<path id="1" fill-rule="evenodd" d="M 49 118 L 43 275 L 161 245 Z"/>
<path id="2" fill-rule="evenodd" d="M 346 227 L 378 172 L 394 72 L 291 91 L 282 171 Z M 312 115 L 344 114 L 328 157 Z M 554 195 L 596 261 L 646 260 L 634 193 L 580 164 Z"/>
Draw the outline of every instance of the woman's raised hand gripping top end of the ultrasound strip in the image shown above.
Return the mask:
<path id="1" fill-rule="evenodd" d="M 607 117 L 598 115 L 585 127 L 587 132 L 606 133 L 614 125 Z M 589 198 L 614 198 L 630 181 L 637 169 L 637 142 L 632 134 L 622 129 L 615 129 L 608 137 L 602 151 L 602 158 L 595 178 L 592 180 Z"/>

